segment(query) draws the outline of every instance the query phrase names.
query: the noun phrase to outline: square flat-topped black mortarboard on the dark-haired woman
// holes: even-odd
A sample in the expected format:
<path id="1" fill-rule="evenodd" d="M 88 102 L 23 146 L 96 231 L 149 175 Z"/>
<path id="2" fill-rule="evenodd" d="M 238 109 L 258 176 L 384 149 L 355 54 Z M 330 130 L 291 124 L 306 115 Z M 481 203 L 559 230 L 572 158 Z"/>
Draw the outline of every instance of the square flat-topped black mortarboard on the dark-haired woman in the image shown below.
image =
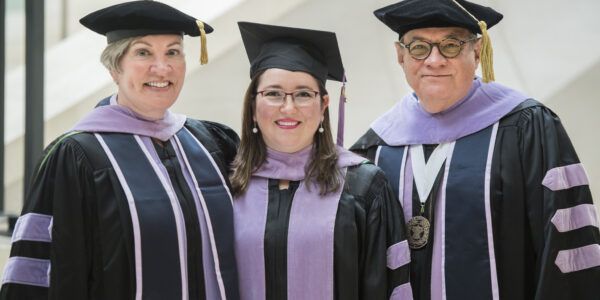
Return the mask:
<path id="1" fill-rule="evenodd" d="M 325 83 L 342 81 L 344 66 L 335 33 L 238 22 L 250 60 L 250 77 L 265 69 L 302 71 Z"/>

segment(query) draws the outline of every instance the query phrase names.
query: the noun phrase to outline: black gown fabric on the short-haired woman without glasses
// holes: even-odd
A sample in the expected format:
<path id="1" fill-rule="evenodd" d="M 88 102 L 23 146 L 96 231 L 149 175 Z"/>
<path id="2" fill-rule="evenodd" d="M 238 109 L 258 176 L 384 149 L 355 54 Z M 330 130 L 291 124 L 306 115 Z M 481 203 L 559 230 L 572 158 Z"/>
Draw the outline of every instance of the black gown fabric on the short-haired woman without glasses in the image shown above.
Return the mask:
<path id="1" fill-rule="evenodd" d="M 237 134 L 218 123 L 191 119 L 185 128 L 207 148 L 227 177 L 239 143 Z M 44 151 L 42 157 L 52 149 L 43 165 L 36 167 L 22 211 L 22 215 L 52 216 L 52 241 L 18 241 L 10 254 L 49 259 L 50 287 L 6 283 L 0 299 L 134 299 L 131 214 L 115 170 L 93 134 L 58 140 Z M 194 198 L 171 143 L 155 143 L 155 148 L 185 220 L 189 299 L 206 299 L 202 251 L 210 250 L 202 249 Z"/>

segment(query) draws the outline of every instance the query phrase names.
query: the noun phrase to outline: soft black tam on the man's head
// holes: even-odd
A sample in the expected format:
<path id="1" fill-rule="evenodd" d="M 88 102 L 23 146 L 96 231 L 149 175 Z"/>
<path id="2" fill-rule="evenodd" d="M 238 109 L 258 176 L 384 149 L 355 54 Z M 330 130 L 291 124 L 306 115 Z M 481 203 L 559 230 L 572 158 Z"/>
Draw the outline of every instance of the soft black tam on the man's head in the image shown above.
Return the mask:
<path id="1" fill-rule="evenodd" d="M 464 0 L 404 0 L 380 8 L 373 13 L 390 27 L 403 36 L 406 32 L 426 27 L 462 27 L 473 33 L 481 33 L 477 20 L 485 21 L 487 28 L 498 24 L 502 14 L 494 9 Z"/>

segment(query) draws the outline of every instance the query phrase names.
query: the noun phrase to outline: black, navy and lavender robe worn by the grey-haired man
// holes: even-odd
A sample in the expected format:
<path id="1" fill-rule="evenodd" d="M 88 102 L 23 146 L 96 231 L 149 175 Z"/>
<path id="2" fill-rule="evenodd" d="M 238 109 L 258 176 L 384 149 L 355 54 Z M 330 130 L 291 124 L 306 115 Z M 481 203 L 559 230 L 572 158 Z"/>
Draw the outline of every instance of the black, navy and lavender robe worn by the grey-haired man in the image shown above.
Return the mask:
<path id="1" fill-rule="evenodd" d="M 424 145 L 430 156 L 443 144 L 450 150 L 421 210 L 412 149 Z M 600 223 L 589 180 L 543 104 L 481 79 L 436 114 L 410 93 L 351 150 L 386 172 L 405 220 L 431 222 L 426 244 L 411 249 L 415 299 L 600 295 Z"/>

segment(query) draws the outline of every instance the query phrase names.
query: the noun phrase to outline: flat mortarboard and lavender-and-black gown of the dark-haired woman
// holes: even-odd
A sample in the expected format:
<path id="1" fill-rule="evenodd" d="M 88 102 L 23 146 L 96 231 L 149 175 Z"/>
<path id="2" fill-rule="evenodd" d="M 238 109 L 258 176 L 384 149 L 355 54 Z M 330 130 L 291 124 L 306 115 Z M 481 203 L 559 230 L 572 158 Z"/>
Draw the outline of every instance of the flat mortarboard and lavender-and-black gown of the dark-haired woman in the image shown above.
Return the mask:
<path id="1" fill-rule="evenodd" d="M 280 68 L 309 73 L 323 84 L 344 81 L 334 33 L 248 22 L 239 27 L 250 77 Z M 343 182 L 321 194 L 306 176 L 314 145 L 296 153 L 266 147 L 247 190 L 234 197 L 241 298 L 412 299 L 402 210 L 385 176 L 338 147 Z M 289 180 L 289 187 L 280 189 L 279 180 Z"/>

